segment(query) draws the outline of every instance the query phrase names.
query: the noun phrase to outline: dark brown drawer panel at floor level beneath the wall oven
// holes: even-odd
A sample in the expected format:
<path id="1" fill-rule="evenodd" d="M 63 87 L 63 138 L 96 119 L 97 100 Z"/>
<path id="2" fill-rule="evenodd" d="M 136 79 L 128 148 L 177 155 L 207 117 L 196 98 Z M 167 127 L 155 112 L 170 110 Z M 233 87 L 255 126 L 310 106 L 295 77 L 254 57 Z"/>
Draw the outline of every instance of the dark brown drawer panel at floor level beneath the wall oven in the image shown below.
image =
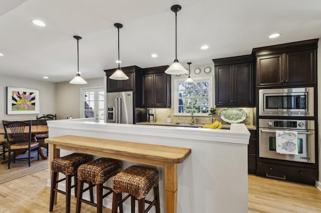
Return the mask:
<path id="1" fill-rule="evenodd" d="M 265 162 L 257 162 L 256 174 L 310 185 L 315 185 L 315 180 L 318 179 L 317 169 Z"/>

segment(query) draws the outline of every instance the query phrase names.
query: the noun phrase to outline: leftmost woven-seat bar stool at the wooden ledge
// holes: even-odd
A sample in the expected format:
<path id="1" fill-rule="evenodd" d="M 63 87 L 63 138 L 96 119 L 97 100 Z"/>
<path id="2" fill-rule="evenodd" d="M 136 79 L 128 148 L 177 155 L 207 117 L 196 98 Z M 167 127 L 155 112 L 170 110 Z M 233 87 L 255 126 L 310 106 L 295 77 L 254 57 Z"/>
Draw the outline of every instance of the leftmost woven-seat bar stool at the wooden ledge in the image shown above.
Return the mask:
<path id="1" fill-rule="evenodd" d="M 72 153 L 66 156 L 58 157 L 52 160 L 52 178 L 51 178 L 51 189 L 50 189 L 50 205 L 49 211 L 54 209 L 55 191 L 66 195 L 66 212 L 70 212 L 70 196 L 71 188 L 74 187 L 75 195 L 77 194 L 77 169 L 78 167 L 93 159 L 92 155 Z M 57 180 L 58 172 L 65 174 L 66 177 Z M 71 178 L 74 177 L 74 184 L 71 185 Z M 66 192 L 58 189 L 58 183 L 66 180 Z M 91 194 L 93 199 L 93 193 Z"/>

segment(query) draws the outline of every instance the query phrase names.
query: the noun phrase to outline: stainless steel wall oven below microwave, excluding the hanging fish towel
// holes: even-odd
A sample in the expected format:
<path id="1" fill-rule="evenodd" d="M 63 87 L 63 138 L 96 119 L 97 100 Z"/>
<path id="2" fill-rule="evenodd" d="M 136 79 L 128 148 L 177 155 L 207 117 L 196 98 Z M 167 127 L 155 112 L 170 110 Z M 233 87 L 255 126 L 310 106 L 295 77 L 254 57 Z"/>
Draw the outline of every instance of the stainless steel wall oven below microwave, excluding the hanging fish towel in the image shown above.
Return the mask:
<path id="1" fill-rule="evenodd" d="M 276 130 L 296 131 L 298 154 L 276 152 Z M 259 119 L 259 157 L 315 163 L 314 120 Z"/>

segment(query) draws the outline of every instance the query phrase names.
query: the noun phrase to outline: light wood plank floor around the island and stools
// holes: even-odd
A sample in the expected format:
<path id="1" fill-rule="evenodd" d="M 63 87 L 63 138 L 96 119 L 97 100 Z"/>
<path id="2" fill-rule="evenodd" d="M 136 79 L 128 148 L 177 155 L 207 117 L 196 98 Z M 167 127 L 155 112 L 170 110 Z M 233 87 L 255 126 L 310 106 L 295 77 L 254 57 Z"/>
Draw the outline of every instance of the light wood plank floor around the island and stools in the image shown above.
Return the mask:
<path id="1" fill-rule="evenodd" d="M 0 212 L 49 212 L 49 192 L 46 186 L 48 169 L 0 184 Z M 321 212 L 321 191 L 311 185 L 285 182 L 249 175 L 249 212 Z M 72 197 L 71 212 L 76 209 Z M 104 212 L 110 213 L 109 209 Z M 53 212 L 65 212 L 65 196 L 58 194 Z M 96 212 L 82 204 L 81 212 Z"/>

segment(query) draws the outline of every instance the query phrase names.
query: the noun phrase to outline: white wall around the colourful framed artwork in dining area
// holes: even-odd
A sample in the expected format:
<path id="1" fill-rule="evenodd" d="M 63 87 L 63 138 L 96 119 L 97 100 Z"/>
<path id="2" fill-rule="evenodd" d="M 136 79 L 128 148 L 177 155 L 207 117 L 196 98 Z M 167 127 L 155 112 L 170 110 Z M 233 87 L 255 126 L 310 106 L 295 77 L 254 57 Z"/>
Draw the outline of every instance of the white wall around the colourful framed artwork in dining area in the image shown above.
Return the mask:
<path id="1" fill-rule="evenodd" d="M 0 75 L 0 120 L 36 119 L 36 115 L 56 113 L 56 83 L 46 80 Z M 39 114 L 7 114 L 7 86 L 39 90 Z M 2 124 L 0 124 L 2 128 Z"/>

